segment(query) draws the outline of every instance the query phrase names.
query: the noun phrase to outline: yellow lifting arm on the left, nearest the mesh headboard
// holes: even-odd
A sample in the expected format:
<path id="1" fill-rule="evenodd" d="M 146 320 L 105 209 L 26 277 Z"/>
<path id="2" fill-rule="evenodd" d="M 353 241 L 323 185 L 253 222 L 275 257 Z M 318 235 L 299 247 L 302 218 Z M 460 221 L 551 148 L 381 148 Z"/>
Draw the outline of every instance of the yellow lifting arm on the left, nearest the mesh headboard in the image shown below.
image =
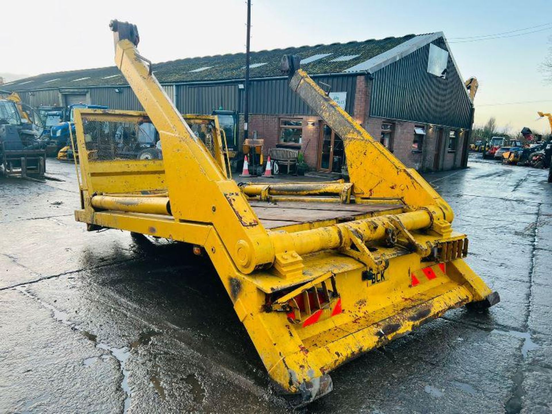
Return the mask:
<path id="1" fill-rule="evenodd" d="M 159 132 L 174 219 L 213 224 L 244 273 L 272 264 L 272 244 L 245 195 L 200 145 L 152 75 L 151 62 L 136 50 L 136 26 L 113 20 L 110 28 L 114 32 L 115 63 Z M 229 220 L 230 216 L 238 220 Z"/>

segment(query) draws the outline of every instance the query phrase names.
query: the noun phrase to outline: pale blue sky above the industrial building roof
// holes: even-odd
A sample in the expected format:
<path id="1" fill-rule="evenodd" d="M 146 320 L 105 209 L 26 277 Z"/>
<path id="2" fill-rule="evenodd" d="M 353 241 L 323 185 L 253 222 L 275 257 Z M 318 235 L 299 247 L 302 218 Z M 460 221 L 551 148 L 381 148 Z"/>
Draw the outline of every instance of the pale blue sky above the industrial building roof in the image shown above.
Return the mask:
<path id="1" fill-rule="evenodd" d="M 112 18 L 139 26 L 140 50 L 154 62 L 245 48 L 243 0 L 95 0 L 93 6 L 27 0 L 25 9 L 23 30 L 21 19 L 3 19 L 0 25 L 4 39 L 0 55 L 13 57 L 0 62 L 0 72 L 36 75 L 112 65 L 107 26 Z M 21 11 L 18 2 L 2 5 L 3 16 Z M 452 42 L 461 40 L 452 38 L 552 23 L 551 12 L 552 1 L 253 0 L 251 47 L 263 50 L 433 31 L 444 31 Z M 552 85 L 544 83 L 539 70 L 551 46 L 552 25 L 548 27 L 511 38 L 450 44 L 462 76 L 479 79 L 476 124 L 494 115 L 499 125 L 512 131 L 529 126 L 549 132 L 548 122 L 535 120 L 537 110 L 552 112 Z"/>

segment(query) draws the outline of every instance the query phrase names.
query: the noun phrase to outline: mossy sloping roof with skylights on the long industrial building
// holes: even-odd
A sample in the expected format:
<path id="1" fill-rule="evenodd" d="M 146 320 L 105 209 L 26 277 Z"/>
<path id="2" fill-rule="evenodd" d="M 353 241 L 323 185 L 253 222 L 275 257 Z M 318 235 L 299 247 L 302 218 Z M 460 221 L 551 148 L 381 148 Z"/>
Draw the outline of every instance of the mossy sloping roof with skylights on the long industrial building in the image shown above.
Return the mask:
<path id="1" fill-rule="evenodd" d="M 299 55 L 302 59 L 301 66 L 310 75 L 374 72 L 440 36 L 443 36 L 442 32 L 424 35 L 409 34 L 399 38 L 390 37 L 380 40 L 370 39 L 251 52 L 251 78 L 281 76 L 280 60 L 284 54 Z M 152 69 L 158 81 L 165 84 L 243 79 L 245 77 L 245 54 L 190 57 L 154 63 Z M 110 66 L 46 73 L 4 84 L 2 88 L 25 91 L 125 84 L 127 84 L 126 79 L 118 68 Z"/>

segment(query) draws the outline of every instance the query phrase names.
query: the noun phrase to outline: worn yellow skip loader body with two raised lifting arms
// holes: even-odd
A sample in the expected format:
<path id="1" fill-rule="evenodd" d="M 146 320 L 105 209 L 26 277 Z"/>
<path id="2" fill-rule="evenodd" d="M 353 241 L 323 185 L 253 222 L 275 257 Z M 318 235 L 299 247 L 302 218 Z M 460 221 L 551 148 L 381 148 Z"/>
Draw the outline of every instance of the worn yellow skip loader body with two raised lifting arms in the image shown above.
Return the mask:
<path id="1" fill-rule="evenodd" d="M 216 128 L 194 129 L 113 20 L 115 63 L 145 112 L 76 110 L 88 230 L 122 229 L 209 255 L 277 388 L 306 404 L 330 371 L 463 305 L 500 299 L 464 262 L 466 235 L 437 192 L 284 56 L 289 86 L 342 137 L 350 182 L 238 185 Z M 145 130 L 162 157 L 128 150 Z M 126 148 L 126 149 L 125 149 Z"/>

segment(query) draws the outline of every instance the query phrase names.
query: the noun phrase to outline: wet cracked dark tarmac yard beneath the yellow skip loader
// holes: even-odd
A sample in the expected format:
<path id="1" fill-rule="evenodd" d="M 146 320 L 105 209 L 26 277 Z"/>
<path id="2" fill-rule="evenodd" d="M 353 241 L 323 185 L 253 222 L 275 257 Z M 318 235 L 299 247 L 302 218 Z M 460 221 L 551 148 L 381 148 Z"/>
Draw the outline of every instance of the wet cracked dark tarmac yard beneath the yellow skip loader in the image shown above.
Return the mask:
<path id="1" fill-rule="evenodd" d="M 332 372 L 300 412 L 552 411 L 552 184 L 470 155 L 426 178 L 502 301 L 450 311 Z M 189 247 L 75 222 L 63 182 L 0 178 L 0 412 L 286 412 L 220 280 Z"/>

